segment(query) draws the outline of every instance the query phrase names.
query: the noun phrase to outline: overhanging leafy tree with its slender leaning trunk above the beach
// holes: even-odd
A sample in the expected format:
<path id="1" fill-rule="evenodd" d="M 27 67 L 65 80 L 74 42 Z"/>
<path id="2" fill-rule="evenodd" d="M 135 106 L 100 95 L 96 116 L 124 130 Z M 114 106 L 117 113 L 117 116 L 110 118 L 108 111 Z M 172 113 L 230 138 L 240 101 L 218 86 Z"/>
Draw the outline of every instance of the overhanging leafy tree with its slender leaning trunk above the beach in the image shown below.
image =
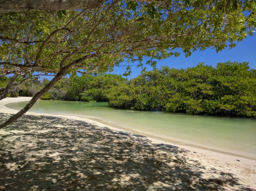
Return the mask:
<path id="1" fill-rule="evenodd" d="M 178 56 L 182 50 L 221 51 L 253 34 L 256 3 L 251 0 L 107 0 L 96 9 L 1 14 L 0 77 L 35 74 L 54 78 L 20 112 L 20 117 L 66 74 L 108 71 L 137 61 L 139 67 Z M 15 76 L 14 76 L 15 77 Z M 12 84 L 11 84 L 12 85 Z M 6 86 L 8 87 L 8 86 Z"/>

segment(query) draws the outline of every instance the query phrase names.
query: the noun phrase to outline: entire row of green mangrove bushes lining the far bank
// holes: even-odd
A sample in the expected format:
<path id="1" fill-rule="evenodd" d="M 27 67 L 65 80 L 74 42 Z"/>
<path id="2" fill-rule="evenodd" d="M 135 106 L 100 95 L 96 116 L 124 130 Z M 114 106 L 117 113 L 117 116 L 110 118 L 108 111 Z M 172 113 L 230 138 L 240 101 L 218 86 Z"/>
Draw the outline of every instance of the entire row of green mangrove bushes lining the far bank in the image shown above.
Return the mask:
<path id="1" fill-rule="evenodd" d="M 30 82 L 15 93 L 31 96 L 46 83 Z M 146 111 L 256 117 L 256 70 L 248 63 L 226 62 L 215 68 L 203 63 L 187 69 L 162 67 L 131 80 L 113 74 L 74 76 L 60 80 L 41 98 L 108 101 L 111 107 Z"/>

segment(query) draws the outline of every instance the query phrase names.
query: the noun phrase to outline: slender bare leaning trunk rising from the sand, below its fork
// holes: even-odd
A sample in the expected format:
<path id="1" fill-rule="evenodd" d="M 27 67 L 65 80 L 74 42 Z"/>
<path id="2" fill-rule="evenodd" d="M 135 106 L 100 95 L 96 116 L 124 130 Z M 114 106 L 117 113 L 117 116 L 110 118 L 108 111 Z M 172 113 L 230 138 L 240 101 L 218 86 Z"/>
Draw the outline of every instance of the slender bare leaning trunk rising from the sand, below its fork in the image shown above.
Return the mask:
<path id="1" fill-rule="evenodd" d="M 43 89 L 41 89 L 41 91 L 38 91 L 38 93 L 36 93 L 32 99 L 29 101 L 28 104 L 26 104 L 26 106 L 21 109 L 17 114 L 14 114 L 12 117 L 10 117 L 8 120 L 6 120 L 5 122 L 3 122 L 2 124 L 0 124 L 0 129 L 4 128 L 5 126 L 11 124 L 12 122 L 14 122 L 15 120 L 17 120 L 19 117 L 21 117 L 23 114 L 25 114 L 35 103 L 36 101 L 43 95 L 45 94 L 50 88 L 52 88 L 55 83 L 58 82 L 58 80 L 61 79 L 61 77 L 63 77 L 67 70 L 70 68 L 71 66 L 66 66 L 64 68 L 61 69 L 61 71 L 59 71 L 55 77 L 52 79 L 52 81 L 50 81 L 49 84 L 47 84 L 47 86 L 45 86 Z"/>

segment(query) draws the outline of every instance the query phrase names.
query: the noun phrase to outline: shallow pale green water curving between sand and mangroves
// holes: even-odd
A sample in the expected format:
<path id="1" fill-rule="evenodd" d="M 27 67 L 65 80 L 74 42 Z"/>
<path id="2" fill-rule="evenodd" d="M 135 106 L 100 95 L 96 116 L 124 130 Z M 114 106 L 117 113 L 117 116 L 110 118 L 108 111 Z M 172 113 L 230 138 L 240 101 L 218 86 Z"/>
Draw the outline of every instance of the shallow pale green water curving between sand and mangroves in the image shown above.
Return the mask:
<path id="1" fill-rule="evenodd" d="M 27 102 L 6 106 L 21 109 Z M 256 119 L 119 110 L 108 103 L 38 100 L 32 112 L 74 115 L 256 160 Z"/>

